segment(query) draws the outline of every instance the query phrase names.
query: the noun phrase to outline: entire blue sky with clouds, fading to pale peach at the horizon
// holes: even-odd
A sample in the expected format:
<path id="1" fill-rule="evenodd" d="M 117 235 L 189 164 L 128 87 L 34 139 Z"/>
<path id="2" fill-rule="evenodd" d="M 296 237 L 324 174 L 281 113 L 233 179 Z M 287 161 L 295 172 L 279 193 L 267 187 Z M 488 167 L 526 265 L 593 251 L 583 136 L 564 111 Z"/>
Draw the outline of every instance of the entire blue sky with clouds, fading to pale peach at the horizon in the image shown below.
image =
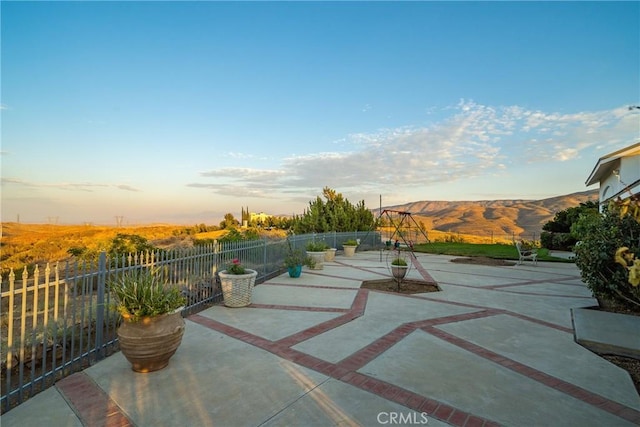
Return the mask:
<path id="1" fill-rule="evenodd" d="M 3 221 L 541 199 L 640 137 L 638 2 L 0 8 Z"/>

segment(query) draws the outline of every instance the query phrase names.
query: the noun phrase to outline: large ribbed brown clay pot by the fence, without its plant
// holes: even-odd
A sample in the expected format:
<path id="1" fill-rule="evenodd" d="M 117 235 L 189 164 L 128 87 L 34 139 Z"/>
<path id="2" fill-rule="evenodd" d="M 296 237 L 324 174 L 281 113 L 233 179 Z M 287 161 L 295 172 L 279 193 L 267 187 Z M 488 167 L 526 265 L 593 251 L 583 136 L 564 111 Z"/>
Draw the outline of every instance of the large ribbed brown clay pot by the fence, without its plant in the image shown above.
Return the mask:
<path id="1" fill-rule="evenodd" d="M 135 372 L 153 372 L 166 367 L 184 334 L 184 319 L 179 311 L 137 322 L 127 320 L 118 328 L 120 351 Z"/>

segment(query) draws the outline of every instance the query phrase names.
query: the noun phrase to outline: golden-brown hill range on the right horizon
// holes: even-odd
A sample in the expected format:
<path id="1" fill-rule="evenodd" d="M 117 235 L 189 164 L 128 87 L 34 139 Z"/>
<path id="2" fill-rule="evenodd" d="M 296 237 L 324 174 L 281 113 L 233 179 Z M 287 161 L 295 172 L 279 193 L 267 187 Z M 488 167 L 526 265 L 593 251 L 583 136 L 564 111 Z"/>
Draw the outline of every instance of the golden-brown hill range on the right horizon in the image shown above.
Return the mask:
<path id="1" fill-rule="evenodd" d="M 556 212 L 597 200 L 598 190 L 589 190 L 542 200 L 429 201 L 386 206 L 382 209 L 411 212 L 427 230 L 487 236 L 493 234 L 538 235 Z M 373 210 L 378 214 L 377 210 Z"/>

